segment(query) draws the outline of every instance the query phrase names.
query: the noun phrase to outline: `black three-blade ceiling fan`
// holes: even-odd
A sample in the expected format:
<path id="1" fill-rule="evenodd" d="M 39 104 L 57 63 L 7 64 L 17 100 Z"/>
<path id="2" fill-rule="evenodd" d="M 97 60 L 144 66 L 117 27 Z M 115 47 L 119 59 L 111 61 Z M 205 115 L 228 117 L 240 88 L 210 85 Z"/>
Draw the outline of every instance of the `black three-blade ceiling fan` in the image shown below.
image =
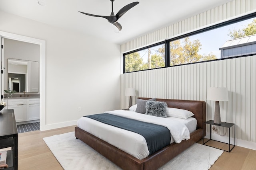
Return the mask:
<path id="1" fill-rule="evenodd" d="M 123 16 L 128 10 L 130 10 L 132 7 L 136 6 L 137 4 L 139 4 L 139 2 L 132 2 L 126 6 L 124 6 L 121 10 L 118 11 L 118 13 L 115 15 L 113 12 L 113 2 L 115 0 L 110 0 L 112 2 L 112 12 L 110 14 L 110 16 L 98 16 L 98 15 L 94 15 L 94 14 L 88 14 L 85 12 L 81 12 L 82 14 L 88 15 L 88 16 L 94 16 L 94 17 L 102 17 L 102 18 L 106 18 L 110 23 L 114 24 L 119 31 L 121 31 L 122 26 L 120 23 L 118 23 L 118 19 L 121 18 L 121 16 Z M 78 11 L 80 12 L 80 11 Z"/>

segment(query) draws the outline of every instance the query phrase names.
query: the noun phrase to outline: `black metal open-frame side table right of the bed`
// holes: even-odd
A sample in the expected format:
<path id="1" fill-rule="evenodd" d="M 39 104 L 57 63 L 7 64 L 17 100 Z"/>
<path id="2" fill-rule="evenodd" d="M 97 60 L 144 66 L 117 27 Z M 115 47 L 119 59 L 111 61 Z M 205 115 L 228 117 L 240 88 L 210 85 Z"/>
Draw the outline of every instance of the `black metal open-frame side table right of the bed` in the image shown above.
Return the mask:
<path id="1" fill-rule="evenodd" d="M 210 130 L 210 139 L 208 141 L 216 141 L 216 140 L 212 139 L 212 125 L 226 127 L 226 128 L 228 128 L 228 143 L 226 143 L 226 144 L 228 144 L 228 150 L 224 150 L 224 149 L 222 149 L 222 150 L 224 150 L 226 152 L 230 152 L 235 147 L 235 145 L 236 145 L 236 124 L 235 123 L 221 122 L 221 124 L 216 124 L 216 123 L 213 123 L 213 120 L 209 120 L 209 121 L 204 122 L 204 124 L 210 125 L 210 129 L 211 129 Z M 230 128 L 231 127 L 234 128 L 234 145 L 230 144 Z M 203 134 L 204 134 L 204 129 L 203 129 Z M 203 145 L 206 145 L 206 143 L 208 141 L 204 142 L 204 138 L 203 138 Z M 217 142 L 220 142 L 220 141 L 217 141 Z M 221 143 L 224 143 L 224 142 L 221 142 Z M 206 146 L 212 147 L 210 145 L 206 145 Z M 230 149 L 230 146 L 233 146 L 233 147 Z M 214 147 L 214 148 L 217 148 L 217 147 Z M 220 148 L 217 148 L 217 149 L 220 149 Z"/>

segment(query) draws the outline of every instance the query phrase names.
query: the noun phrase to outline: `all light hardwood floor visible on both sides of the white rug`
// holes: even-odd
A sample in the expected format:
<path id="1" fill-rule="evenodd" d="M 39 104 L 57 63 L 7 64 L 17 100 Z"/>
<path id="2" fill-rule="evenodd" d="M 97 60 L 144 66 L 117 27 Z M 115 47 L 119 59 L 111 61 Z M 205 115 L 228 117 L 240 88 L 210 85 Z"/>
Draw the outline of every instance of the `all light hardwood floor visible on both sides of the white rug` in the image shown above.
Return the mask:
<path id="1" fill-rule="evenodd" d="M 74 131 L 75 126 L 18 135 L 18 170 L 63 170 L 42 138 Z M 202 143 L 202 140 L 198 143 Z M 221 144 L 220 144 L 220 147 Z M 198 160 L 200 161 L 200 160 Z M 210 170 L 255 170 L 256 150 L 234 147 L 223 152 Z"/>

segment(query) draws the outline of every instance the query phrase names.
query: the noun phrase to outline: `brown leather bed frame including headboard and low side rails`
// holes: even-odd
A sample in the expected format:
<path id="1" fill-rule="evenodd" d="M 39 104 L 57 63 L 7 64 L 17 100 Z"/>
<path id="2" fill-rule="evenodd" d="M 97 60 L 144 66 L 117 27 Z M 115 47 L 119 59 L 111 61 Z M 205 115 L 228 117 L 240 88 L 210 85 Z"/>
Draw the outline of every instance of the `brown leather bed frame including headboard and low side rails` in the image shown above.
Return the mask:
<path id="1" fill-rule="evenodd" d="M 150 98 L 140 99 L 148 100 Z M 204 124 L 206 121 L 206 103 L 204 101 L 173 99 L 156 99 L 156 101 L 166 102 L 168 107 L 186 109 L 195 114 L 193 117 L 197 119 L 197 129 L 190 133 L 189 140 L 183 140 L 181 143 L 172 143 L 156 153 L 139 160 L 78 127 L 75 127 L 75 136 L 124 170 L 156 170 L 202 139 L 206 132 L 206 125 Z"/>

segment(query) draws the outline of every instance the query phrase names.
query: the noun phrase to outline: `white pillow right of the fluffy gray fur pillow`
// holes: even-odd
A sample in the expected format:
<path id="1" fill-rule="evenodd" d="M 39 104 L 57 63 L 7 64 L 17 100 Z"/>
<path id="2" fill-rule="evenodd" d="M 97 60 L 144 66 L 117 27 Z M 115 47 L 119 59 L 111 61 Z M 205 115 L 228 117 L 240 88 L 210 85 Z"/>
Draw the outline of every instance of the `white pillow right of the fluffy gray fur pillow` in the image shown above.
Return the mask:
<path id="1" fill-rule="evenodd" d="M 194 116 L 194 113 L 184 109 L 177 109 L 173 107 L 166 108 L 166 115 L 168 117 L 177 117 L 181 119 L 188 119 L 188 117 Z"/>

